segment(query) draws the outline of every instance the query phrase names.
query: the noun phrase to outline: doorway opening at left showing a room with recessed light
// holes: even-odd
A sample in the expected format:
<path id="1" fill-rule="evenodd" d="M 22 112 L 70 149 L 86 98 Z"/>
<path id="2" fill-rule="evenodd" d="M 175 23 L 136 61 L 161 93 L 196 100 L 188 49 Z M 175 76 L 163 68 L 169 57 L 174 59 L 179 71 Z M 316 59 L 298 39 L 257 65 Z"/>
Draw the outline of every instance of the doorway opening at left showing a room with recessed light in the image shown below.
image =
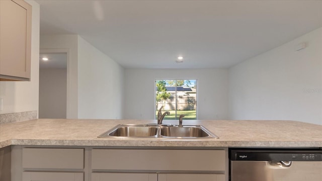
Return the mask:
<path id="1" fill-rule="evenodd" d="M 67 53 L 39 54 L 39 118 L 67 117 Z"/>

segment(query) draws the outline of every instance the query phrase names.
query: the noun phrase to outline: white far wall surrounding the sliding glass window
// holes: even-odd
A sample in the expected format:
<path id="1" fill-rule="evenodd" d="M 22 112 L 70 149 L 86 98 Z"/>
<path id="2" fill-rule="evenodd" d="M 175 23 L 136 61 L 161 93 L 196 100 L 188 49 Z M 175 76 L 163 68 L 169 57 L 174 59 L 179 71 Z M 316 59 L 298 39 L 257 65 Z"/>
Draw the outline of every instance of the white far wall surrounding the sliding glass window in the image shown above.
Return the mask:
<path id="1" fill-rule="evenodd" d="M 227 69 L 125 69 L 125 119 L 154 119 L 155 79 L 197 79 L 198 119 L 228 118 Z"/>

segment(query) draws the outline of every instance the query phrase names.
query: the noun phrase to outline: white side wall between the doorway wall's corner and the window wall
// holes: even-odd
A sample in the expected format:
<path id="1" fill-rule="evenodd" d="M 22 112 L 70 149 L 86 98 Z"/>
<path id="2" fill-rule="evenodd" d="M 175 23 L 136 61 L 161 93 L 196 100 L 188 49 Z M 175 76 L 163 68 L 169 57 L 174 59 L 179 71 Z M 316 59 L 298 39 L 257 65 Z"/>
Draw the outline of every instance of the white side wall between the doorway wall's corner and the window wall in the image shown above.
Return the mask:
<path id="1" fill-rule="evenodd" d="M 124 69 L 78 36 L 78 118 L 121 119 Z"/>

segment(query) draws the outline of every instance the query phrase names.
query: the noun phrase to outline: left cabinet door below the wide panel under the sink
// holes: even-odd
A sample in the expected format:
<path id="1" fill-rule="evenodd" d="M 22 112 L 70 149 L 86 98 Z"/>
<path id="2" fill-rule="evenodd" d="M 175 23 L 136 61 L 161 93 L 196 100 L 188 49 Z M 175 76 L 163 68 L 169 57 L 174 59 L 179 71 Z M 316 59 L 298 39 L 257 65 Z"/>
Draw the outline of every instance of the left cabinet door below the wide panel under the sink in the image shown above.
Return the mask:
<path id="1" fill-rule="evenodd" d="M 157 181 L 156 173 L 92 173 L 92 181 Z"/>

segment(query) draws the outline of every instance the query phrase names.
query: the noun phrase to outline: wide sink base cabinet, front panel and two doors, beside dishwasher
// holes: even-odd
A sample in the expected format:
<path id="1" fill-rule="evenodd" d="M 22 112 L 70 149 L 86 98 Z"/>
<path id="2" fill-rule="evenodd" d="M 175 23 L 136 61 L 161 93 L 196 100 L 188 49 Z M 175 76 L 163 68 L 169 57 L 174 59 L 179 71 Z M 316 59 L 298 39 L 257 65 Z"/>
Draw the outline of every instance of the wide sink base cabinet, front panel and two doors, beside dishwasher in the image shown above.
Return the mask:
<path id="1" fill-rule="evenodd" d="M 226 153 L 224 149 L 94 148 L 92 181 L 225 181 Z"/>

